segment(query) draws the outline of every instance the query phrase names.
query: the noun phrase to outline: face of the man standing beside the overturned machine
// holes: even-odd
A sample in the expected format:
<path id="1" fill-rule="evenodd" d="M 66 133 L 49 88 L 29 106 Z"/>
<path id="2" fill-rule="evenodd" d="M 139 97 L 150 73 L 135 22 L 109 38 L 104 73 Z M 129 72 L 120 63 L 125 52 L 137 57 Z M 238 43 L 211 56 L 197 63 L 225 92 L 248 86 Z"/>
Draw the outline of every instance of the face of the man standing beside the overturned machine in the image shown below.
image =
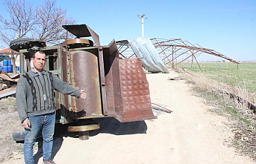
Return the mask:
<path id="1" fill-rule="evenodd" d="M 35 53 L 34 59 L 31 59 L 34 65 L 34 70 L 37 72 L 42 72 L 43 67 L 46 65 L 46 54 L 45 53 Z"/>

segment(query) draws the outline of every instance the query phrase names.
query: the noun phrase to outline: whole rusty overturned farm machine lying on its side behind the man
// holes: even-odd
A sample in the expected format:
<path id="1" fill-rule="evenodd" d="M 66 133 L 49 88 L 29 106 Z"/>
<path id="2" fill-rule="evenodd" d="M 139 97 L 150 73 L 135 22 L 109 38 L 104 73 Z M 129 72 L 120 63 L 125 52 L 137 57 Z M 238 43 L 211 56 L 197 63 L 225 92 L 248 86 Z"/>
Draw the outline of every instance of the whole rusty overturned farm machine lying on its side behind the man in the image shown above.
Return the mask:
<path id="1" fill-rule="evenodd" d="M 139 59 L 119 58 L 115 40 L 101 46 L 99 35 L 86 24 L 63 28 L 67 36 L 72 33 L 76 38 L 54 46 L 33 39 L 10 42 L 10 48 L 21 54 L 21 73 L 31 69 L 29 61 L 34 51 L 42 50 L 46 53 L 46 70 L 87 94 L 86 99 L 77 99 L 56 92 L 57 123 L 72 123 L 67 130 L 78 132 L 81 140 L 87 140 L 89 131 L 100 128 L 92 119 L 114 117 L 119 122 L 135 122 L 157 118 Z"/>

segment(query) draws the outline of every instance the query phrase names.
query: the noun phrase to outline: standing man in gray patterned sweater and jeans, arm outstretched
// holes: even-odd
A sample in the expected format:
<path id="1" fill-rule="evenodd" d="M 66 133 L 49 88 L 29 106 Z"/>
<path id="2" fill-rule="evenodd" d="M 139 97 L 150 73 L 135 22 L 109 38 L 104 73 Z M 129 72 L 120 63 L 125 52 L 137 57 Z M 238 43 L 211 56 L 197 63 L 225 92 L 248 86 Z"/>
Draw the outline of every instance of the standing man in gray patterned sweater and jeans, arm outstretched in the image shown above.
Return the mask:
<path id="1" fill-rule="evenodd" d="M 19 119 L 25 128 L 24 160 L 26 164 L 34 164 L 33 147 L 37 141 L 37 134 L 42 129 L 43 163 L 54 163 L 51 159 L 56 115 L 54 90 L 82 99 L 85 99 L 87 94 L 84 90 L 72 88 L 53 73 L 44 70 L 44 52 L 34 53 L 31 62 L 34 68 L 20 76 L 16 88 Z"/>

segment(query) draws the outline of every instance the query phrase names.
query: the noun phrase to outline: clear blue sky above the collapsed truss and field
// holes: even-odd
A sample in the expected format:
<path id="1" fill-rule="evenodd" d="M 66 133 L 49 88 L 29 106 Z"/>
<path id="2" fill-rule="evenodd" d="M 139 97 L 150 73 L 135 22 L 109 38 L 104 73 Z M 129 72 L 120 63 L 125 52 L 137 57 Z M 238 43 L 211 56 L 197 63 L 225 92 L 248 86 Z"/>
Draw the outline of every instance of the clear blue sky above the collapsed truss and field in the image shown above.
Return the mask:
<path id="1" fill-rule="evenodd" d="M 30 1 L 42 4 L 43 1 Z M 135 39 L 141 36 L 138 14 L 146 14 L 144 36 L 182 39 L 210 48 L 237 61 L 256 61 L 255 0 L 180 0 L 180 1 L 61 1 L 78 24 L 87 24 L 100 36 L 102 45 L 112 39 Z M 0 10 L 3 12 L 1 5 Z M 219 59 L 208 54 L 199 60 Z"/>

